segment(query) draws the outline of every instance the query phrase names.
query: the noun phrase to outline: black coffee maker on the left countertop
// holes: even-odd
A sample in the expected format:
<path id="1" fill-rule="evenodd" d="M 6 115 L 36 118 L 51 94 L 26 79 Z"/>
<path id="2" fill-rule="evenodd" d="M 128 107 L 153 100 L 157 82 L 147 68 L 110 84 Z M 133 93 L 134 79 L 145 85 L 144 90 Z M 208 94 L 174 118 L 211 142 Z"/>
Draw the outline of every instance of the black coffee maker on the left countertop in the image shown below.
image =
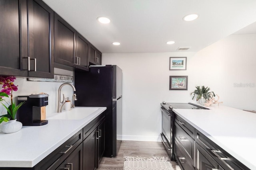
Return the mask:
<path id="1" fill-rule="evenodd" d="M 48 94 L 31 94 L 18 96 L 18 104 L 25 102 L 17 112 L 17 120 L 24 126 L 46 125 L 45 107 L 48 105 Z"/>

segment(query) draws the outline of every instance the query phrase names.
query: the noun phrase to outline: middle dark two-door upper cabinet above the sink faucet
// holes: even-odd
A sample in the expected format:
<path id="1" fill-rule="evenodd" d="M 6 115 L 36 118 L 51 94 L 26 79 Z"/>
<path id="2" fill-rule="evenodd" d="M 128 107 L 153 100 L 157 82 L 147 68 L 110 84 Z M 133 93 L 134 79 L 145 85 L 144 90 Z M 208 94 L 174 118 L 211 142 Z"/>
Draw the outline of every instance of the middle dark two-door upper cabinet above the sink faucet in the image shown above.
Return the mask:
<path id="1" fill-rule="evenodd" d="M 54 29 L 55 67 L 89 70 L 89 41 L 56 13 L 54 13 Z"/>

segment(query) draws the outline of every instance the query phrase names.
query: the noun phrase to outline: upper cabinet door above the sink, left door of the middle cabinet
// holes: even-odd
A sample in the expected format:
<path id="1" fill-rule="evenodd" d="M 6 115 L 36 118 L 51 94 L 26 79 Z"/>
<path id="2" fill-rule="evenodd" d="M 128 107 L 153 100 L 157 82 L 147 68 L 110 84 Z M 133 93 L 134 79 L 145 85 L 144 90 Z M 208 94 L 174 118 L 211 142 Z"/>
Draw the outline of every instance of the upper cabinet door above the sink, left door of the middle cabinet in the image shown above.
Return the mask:
<path id="1" fill-rule="evenodd" d="M 54 13 L 54 62 L 74 67 L 76 30 Z"/>

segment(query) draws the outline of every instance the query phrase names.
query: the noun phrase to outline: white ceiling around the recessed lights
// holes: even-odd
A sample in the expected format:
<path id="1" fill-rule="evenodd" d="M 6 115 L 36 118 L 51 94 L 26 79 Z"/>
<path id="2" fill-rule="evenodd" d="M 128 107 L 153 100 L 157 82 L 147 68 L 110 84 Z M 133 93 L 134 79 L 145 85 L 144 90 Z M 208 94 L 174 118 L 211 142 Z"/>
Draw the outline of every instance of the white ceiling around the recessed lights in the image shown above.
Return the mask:
<path id="1" fill-rule="evenodd" d="M 178 47 L 196 52 L 256 22 L 256 0 L 43 1 L 102 53 L 177 52 Z M 192 13 L 199 18 L 182 20 Z M 99 23 L 99 16 L 111 22 Z M 116 41 L 121 45 L 111 44 Z"/>

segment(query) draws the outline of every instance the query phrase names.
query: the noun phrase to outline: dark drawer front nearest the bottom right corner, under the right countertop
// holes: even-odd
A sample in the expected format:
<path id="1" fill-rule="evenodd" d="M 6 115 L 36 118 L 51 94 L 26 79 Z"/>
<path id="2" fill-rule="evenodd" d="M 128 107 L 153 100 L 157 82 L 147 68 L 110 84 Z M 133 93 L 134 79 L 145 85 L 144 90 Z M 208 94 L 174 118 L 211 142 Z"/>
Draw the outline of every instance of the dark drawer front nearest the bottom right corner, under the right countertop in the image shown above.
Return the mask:
<path id="1" fill-rule="evenodd" d="M 208 137 L 196 130 L 196 143 L 202 147 L 225 170 L 249 170 L 244 164 L 236 160 Z"/>

